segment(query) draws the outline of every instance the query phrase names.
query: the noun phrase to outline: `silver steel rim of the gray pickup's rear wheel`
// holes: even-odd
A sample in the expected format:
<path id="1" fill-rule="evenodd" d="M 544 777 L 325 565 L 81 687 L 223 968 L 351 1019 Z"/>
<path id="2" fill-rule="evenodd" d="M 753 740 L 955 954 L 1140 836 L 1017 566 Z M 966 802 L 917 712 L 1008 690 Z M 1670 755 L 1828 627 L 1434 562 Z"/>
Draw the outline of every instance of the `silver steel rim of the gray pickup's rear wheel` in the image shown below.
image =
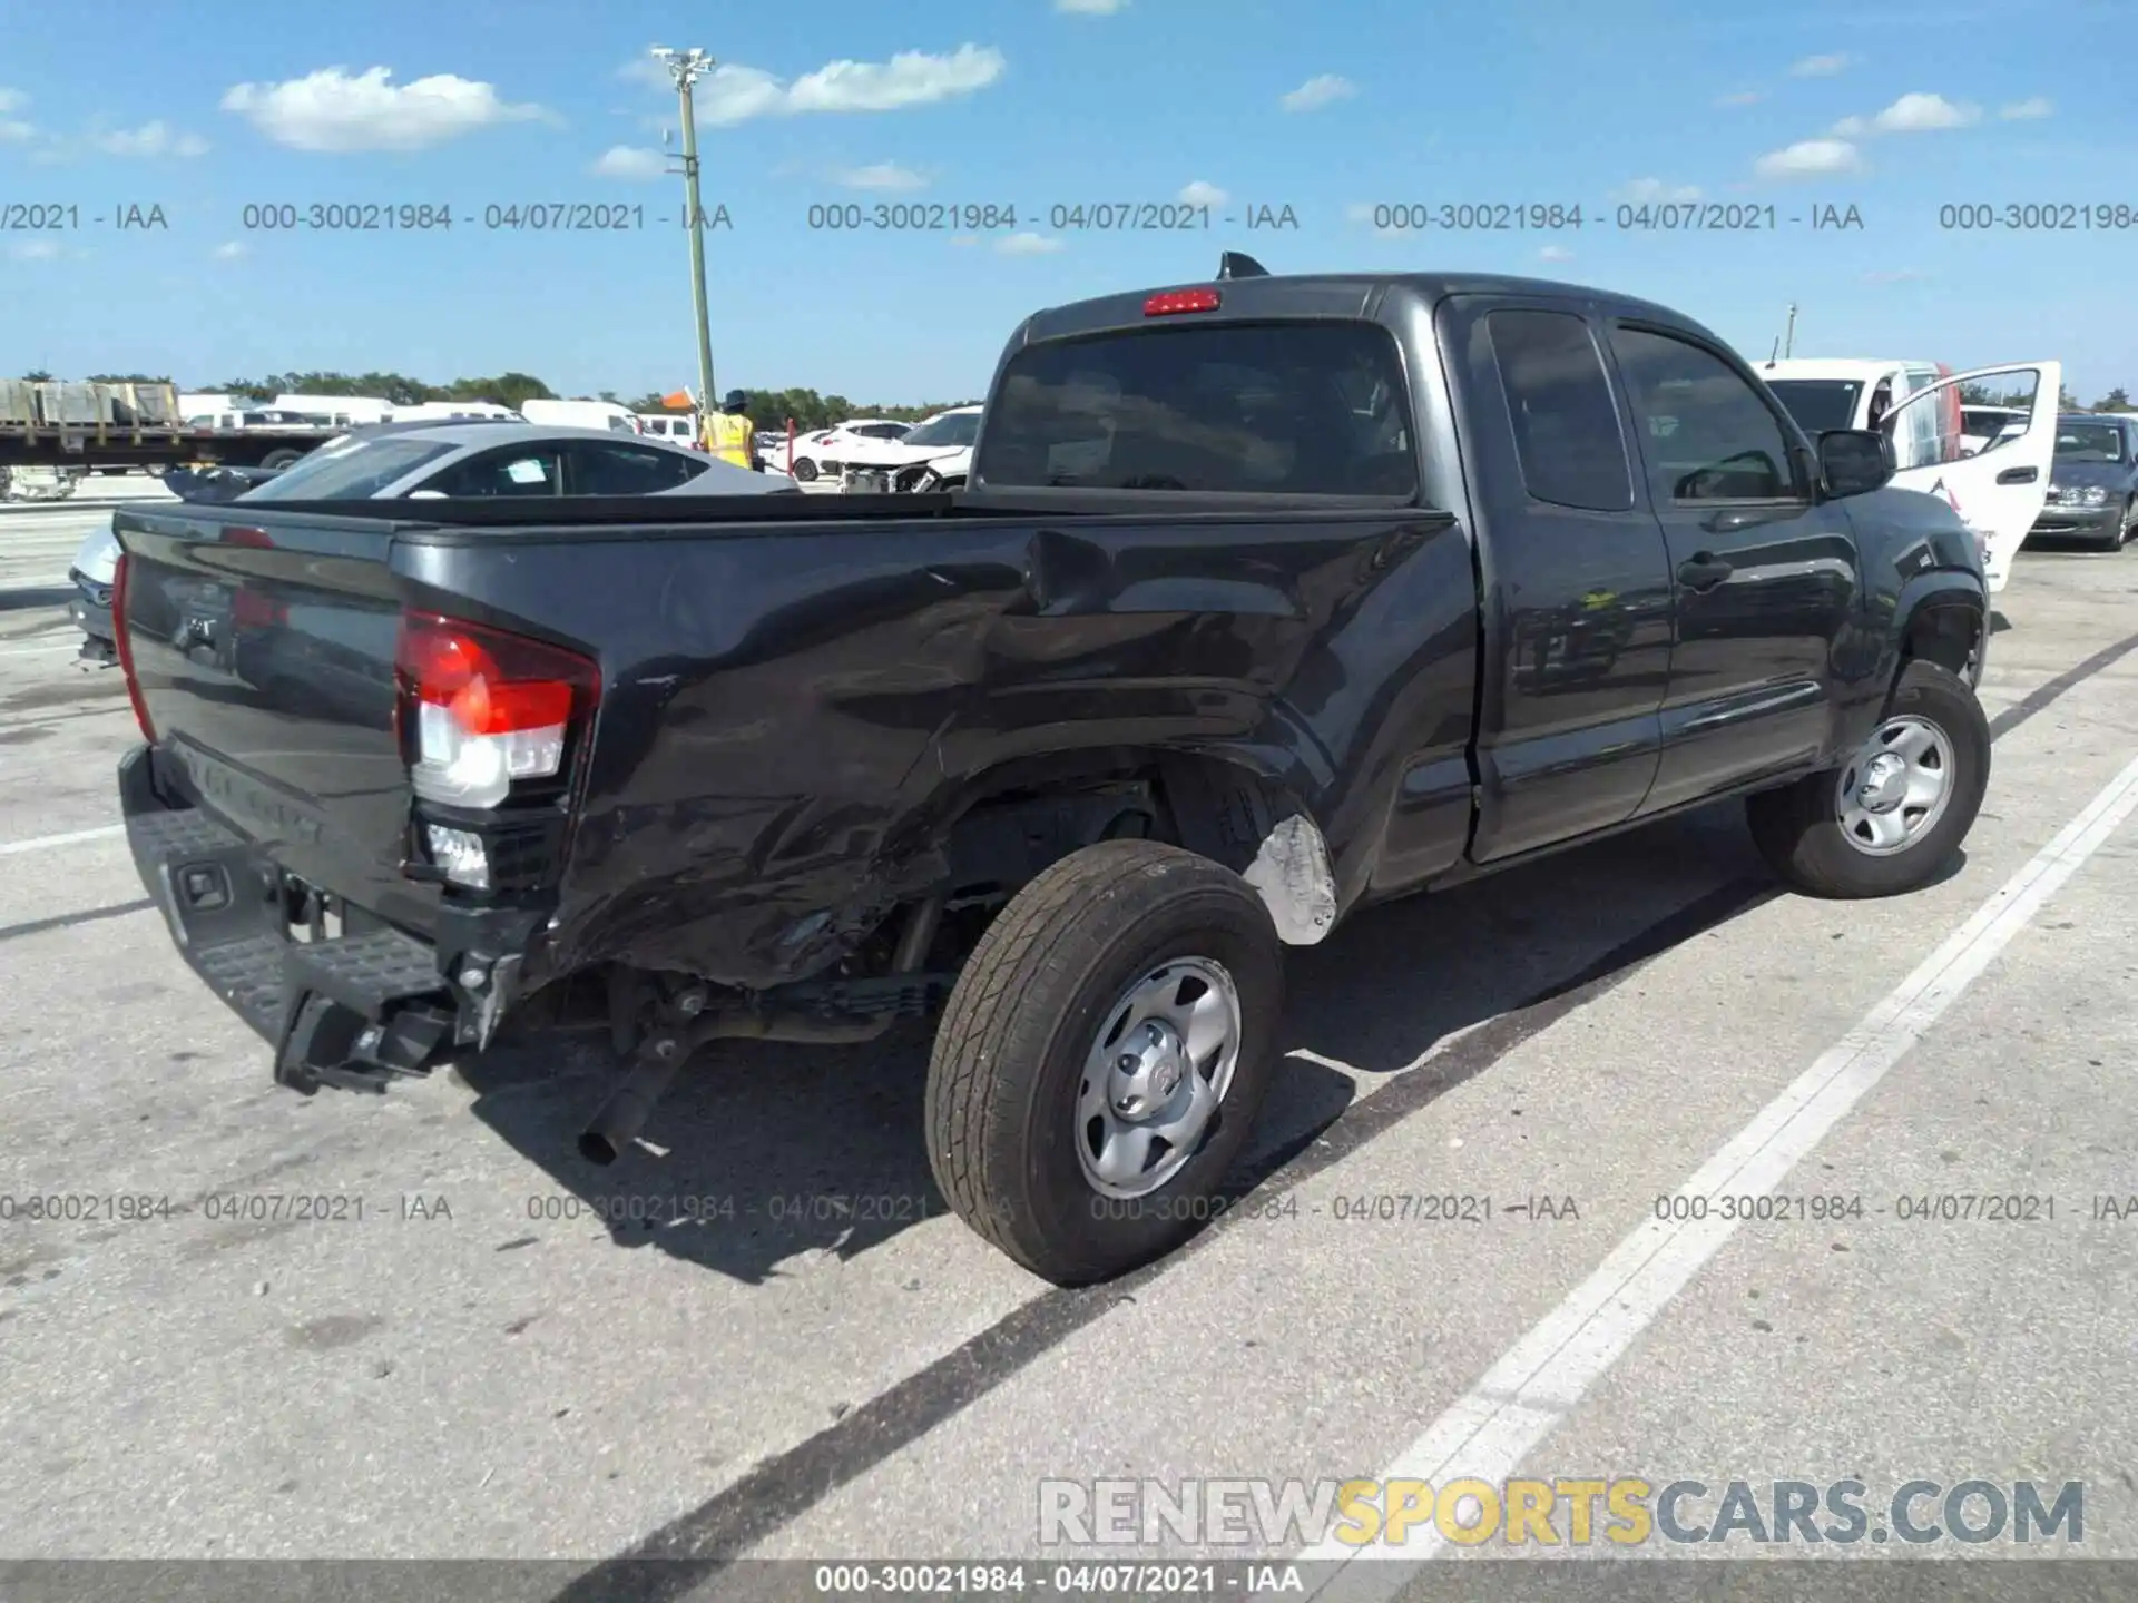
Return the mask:
<path id="1" fill-rule="evenodd" d="M 1120 994 L 1084 1058 L 1075 1154 L 1101 1197 L 1148 1197 L 1202 1146 L 1240 1062 L 1223 964 L 1174 958 Z"/>

